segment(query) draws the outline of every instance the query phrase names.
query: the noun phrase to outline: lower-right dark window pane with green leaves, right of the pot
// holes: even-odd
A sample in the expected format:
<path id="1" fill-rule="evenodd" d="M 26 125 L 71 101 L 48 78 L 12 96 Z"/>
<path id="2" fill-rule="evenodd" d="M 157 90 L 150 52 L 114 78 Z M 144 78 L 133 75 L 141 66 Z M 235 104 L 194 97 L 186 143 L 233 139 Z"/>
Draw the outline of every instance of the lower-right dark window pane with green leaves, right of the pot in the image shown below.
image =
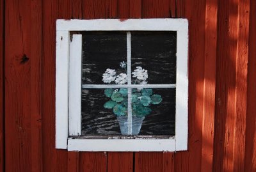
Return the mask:
<path id="1" fill-rule="evenodd" d="M 132 89 L 132 116 L 143 118 L 139 135 L 174 135 L 175 88 Z"/>

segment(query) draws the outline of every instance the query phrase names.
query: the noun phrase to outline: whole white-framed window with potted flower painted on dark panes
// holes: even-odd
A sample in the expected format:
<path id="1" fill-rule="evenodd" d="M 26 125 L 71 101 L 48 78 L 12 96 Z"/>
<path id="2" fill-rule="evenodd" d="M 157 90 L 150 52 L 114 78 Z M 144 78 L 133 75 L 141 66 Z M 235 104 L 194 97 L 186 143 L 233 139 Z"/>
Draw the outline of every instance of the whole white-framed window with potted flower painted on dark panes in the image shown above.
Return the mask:
<path id="1" fill-rule="evenodd" d="M 56 148 L 187 149 L 186 19 L 57 20 L 56 42 Z"/>

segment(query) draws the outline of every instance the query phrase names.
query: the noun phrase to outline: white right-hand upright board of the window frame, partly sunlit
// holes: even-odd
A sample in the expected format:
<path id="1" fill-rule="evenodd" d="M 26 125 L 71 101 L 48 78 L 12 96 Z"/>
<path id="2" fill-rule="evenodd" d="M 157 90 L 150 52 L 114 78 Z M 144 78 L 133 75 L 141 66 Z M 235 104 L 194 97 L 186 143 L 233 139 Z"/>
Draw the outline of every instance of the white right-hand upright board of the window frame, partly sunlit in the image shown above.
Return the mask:
<path id="1" fill-rule="evenodd" d="M 176 150 L 188 150 L 188 31 L 177 31 Z"/>

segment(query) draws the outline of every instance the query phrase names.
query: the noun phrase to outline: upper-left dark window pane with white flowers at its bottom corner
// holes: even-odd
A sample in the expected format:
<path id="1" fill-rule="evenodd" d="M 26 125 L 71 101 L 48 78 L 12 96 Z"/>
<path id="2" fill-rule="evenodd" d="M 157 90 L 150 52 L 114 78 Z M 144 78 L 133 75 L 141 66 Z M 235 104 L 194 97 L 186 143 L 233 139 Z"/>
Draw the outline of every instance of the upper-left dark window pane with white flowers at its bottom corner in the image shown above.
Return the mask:
<path id="1" fill-rule="evenodd" d="M 127 80 L 126 42 L 126 32 L 83 32 L 82 83 L 124 84 Z"/>

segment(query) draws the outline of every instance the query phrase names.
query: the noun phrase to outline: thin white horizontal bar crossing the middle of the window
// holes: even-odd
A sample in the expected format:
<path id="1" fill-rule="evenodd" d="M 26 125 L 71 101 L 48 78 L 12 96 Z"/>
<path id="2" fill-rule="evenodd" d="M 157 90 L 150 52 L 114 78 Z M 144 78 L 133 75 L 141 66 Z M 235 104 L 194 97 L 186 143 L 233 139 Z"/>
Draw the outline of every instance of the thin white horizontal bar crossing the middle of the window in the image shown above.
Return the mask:
<path id="1" fill-rule="evenodd" d="M 176 84 L 83 84 L 82 88 L 176 88 Z"/>

